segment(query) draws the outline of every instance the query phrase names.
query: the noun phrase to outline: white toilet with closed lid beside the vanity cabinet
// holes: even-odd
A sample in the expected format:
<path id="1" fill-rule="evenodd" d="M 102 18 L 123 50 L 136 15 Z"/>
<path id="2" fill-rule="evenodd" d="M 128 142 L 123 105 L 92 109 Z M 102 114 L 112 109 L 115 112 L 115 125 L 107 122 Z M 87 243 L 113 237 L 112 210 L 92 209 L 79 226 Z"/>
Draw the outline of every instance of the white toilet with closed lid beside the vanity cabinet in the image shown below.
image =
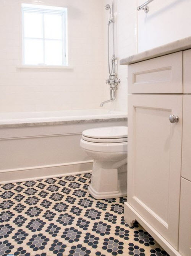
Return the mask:
<path id="1" fill-rule="evenodd" d="M 80 145 L 93 160 L 89 193 L 96 199 L 127 194 L 126 126 L 84 130 Z"/>

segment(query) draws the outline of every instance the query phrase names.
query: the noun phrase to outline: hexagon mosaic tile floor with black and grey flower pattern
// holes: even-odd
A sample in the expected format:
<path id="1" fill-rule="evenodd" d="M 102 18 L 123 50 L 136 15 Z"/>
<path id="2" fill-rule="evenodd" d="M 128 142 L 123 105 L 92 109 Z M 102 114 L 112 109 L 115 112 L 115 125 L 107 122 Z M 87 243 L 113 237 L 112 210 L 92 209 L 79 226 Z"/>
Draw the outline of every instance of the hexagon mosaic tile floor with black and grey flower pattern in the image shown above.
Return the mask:
<path id="1" fill-rule="evenodd" d="M 123 218 L 126 198 L 96 200 L 91 174 L 0 185 L 0 256 L 168 255 Z"/>

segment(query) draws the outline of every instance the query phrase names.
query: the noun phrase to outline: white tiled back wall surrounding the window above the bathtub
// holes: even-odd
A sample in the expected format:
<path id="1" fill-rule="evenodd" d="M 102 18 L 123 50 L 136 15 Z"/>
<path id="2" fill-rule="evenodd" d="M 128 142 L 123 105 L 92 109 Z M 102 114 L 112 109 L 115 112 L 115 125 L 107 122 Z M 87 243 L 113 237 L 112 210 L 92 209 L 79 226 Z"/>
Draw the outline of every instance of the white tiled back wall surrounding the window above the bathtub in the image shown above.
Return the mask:
<path id="1" fill-rule="evenodd" d="M 97 108 L 104 99 L 102 0 L 41 0 L 68 7 L 73 70 L 21 70 L 21 3 L 0 0 L 0 111 Z"/>

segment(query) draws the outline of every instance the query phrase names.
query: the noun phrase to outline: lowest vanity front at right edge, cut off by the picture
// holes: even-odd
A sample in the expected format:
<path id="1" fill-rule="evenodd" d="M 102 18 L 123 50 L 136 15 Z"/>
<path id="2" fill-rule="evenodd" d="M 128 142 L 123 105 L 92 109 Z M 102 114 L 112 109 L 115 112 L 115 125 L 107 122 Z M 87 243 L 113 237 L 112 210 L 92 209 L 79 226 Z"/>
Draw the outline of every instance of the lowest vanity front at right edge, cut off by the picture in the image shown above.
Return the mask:
<path id="1" fill-rule="evenodd" d="M 191 255 L 191 181 L 181 179 L 179 252 Z"/>

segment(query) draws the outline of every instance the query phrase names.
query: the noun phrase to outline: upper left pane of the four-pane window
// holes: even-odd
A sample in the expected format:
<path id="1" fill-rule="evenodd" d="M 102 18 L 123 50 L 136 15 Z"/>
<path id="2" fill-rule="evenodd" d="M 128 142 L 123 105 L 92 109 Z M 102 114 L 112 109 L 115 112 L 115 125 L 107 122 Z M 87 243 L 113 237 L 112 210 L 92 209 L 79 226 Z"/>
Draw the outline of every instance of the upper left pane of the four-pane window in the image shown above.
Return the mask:
<path id="1" fill-rule="evenodd" d="M 42 14 L 24 12 L 24 37 L 42 38 Z"/>

